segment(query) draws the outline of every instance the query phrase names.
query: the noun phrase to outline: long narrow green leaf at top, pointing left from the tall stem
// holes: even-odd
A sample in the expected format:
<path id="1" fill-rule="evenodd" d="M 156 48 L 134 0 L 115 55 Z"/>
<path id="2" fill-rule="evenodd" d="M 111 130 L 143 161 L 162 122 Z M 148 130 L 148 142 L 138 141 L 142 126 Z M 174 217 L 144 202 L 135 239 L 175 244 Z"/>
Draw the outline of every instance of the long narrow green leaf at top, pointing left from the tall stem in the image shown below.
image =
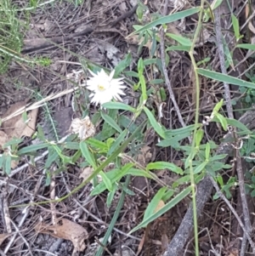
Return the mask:
<path id="1" fill-rule="evenodd" d="M 170 14 L 164 17 L 161 17 L 157 20 L 153 20 L 152 22 L 150 22 L 149 24 L 141 27 L 140 29 L 138 29 L 137 31 L 134 31 L 133 33 L 131 33 L 128 37 L 133 36 L 134 34 L 139 34 L 141 32 L 144 32 L 146 30 L 149 30 L 155 26 L 158 25 L 162 25 L 162 24 L 167 24 L 176 20 L 181 20 L 184 19 L 185 17 L 188 17 L 192 14 L 196 14 L 200 11 L 200 8 L 192 8 L 192 9 L 188 9 L 188 10 L 184 10 L 175 14 Z"/>

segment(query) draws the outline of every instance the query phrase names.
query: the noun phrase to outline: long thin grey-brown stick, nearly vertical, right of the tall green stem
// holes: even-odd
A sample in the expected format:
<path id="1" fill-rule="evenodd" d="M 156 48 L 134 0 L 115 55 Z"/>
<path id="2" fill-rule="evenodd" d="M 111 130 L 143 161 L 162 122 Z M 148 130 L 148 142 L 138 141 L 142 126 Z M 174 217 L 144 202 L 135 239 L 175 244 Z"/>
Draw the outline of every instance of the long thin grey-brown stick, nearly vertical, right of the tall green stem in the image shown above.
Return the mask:
<path id="1" fill-rule="evenodd" d="M 214 11 L 215 14 L 215 32 L 216 32 L 216 45 L 218 46 L 218 58 L 219 58 L 219 63 L 220 63 L 220 68 L 221 71 L 224 75 L 227 75 L 227 70 L 225 67 L 225 58 L 224 58 L 224 45 L 223 45 L 223 35 L 221 32 L 221 26 L 220 26 L 220 9 L 216 9 Z M 224 93 L 225 93 L 225 101 L 226 101 L 226 105 L 227 105 L 227 111 L 228 111 L 228 116 L 229 118 L 234 118 L 234 114 L 233 114 L 233 108 L 231 105 L 231 95 L 230 95 L 230 90 L 229 90 L 229 84 L 224 82 Z M 235 137 L 235 128 L 233 130 L 233 134 Z M 238 152 L 237 152 L 238 154 Z M 246 201 L 246 195 L 245 195 L 245 187 L 244 187 L 244 179 L 243 179 L 243 172 L 242 172 L 242 168 L 241 168 L 241 156 L 240 154 L 238 156 L 236 156 L 236 164 L 237 164 L 237 175 L 238 175 L 238 180 L 239 180 L 239 187 L 240 187 L 240 193 L 241 193 L 241 204 L 242 204 L 242 210 L 243 210 L 243 214 L 244 214 L 244 219 L 245 219 L 245 226 L 246 226 L 246 230 L 247 233 L 250 234 L 252 231 L 252 227 L 251 227 L 251 221 L 250 221 L 250 216 L 249 216 L 249 211 L 247 209 L 247 201 Z M 246 235 L 244 235 L 246 236 Z M 242 243 L 241 243 L 241 252 L 245 253 L 245 247 L 246 247 L 246 239 L 245 237 L 243 237 L 244 239 L 242 239 Z M 253 251 L 254 253 L 254 251 Z M 241 256 L 243 256 L 244 254 L 241 254 Z"/>

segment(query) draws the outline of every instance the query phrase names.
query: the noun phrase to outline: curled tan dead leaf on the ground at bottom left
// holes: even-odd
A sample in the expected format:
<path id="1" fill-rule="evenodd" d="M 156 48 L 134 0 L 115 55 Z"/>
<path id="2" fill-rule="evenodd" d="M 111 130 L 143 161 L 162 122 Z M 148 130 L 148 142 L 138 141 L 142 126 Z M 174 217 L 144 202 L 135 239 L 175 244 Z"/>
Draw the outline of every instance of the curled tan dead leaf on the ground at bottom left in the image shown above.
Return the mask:
<path id="1" fill-rule="evenodd" d="M 82 252 L 86 247 L 84 240 L 88 239 L 87 230 L 69 219 L 60 219 L 58 225 L 41 223 L 35 227 L 35 230 L 39 233 L 70 240 L 78 252 Z"/>

